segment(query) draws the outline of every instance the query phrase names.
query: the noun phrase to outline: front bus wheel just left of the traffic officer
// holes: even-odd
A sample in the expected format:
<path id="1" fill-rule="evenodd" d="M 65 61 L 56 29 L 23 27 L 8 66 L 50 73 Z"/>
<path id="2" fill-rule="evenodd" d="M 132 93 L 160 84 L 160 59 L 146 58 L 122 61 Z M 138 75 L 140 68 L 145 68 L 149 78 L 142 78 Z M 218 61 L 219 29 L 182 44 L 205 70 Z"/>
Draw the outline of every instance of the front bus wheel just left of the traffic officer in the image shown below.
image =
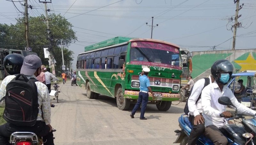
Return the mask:
<path id="1" fill-rule="evenodd" d="M 122 87 L 119 87 L 116 92 L 116 103 L 120 110 L 127 110 L 130 107 L 131 100 L 124 98 Z"/>

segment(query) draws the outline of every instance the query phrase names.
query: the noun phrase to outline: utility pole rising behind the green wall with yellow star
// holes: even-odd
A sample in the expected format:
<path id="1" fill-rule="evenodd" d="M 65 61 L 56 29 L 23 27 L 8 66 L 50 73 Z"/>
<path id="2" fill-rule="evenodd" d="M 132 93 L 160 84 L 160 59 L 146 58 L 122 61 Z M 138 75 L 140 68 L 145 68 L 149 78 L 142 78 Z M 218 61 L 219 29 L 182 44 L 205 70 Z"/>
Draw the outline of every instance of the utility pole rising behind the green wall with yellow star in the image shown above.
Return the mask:
<path id="1" fill-rule="evenodd" d="M 238 22 L 238 18 L 240 18 L 242 16 L 242 15 L 238 16 L 238 11 L 243 8 L 241 5 L 239 8 L 239 1 L 240 0 L 234 0 L 234 3 L 236 4 L 236 15 L 235 15 L 235 24 L 232 26 L 232 27 L 234 27 L 232 50 L 235 50 L 235 47 L 236 47 L 236 28 L 242 26 L 242 24 L 240 22 Z M 244 5 L 244 4 L 242 4 L 242 5 Z"/>

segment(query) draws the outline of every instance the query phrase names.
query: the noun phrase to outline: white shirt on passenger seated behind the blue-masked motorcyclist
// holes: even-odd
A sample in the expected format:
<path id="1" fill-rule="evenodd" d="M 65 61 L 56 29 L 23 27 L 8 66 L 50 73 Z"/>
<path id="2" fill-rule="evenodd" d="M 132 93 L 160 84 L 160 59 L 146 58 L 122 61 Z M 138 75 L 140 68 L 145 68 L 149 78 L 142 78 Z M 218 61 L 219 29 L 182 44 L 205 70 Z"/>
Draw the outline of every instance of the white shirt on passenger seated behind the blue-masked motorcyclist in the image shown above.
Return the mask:
<path id="1" fill-rule="evenodd" d="M 211 76 L 209 76 L 209 79 L 211 84 L 212 83 Z M 205 83 L 205 80 L 200 79 L 196 81 L 196 83 L 194 84 L 191 95 L 188 98 L 188 110 L 190 115 L 196 116 L 196 115 L 199 115 L 199 113 L 203 112 L 201 98 L 197 101 L 197 103 L 196 103 L 196 100 L 198 99 L 199 95 L 201 94 L 204 88 L 204 83 Z"/>

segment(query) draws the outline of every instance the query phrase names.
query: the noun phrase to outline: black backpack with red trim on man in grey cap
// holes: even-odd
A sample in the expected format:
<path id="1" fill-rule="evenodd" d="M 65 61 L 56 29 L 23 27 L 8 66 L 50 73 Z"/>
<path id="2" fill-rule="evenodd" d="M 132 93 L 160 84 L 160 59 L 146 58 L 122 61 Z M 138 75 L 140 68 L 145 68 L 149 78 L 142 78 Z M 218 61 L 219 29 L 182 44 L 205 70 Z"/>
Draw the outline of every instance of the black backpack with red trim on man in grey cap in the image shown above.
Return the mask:
<path id="1" fill-rule="evenodd" d="M 35 78 L 18 74 L 6 86 L 4 120 L 16 126 L 33 126 L 38 115 L 38 96 Z"/>

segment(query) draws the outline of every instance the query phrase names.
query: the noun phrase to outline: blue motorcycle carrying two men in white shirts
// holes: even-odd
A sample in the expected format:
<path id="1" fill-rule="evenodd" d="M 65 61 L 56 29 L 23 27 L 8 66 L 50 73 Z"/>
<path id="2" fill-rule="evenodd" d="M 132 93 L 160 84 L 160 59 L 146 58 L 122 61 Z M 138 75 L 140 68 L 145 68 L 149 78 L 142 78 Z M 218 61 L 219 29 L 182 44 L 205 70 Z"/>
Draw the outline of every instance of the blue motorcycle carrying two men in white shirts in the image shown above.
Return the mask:
<path id="1" fill-rule="evenodd" d="M 235 107 L 228 97 L 220 97 L 218 102 L 222 105 L 231 105 Z M 235 107 L 236 108 L 236 107 Z M 220 117 L 224 117 L 220 114 Z M 251 119 L 244 119 L 243 116 L 235 112 L 235 117 L 229 118 L 239 119 L 242 118 L 243 126 L 236 126 L 235 124 L 227 124 L 220 128 L 220 131 L 227 137 L 228 145 L 254 145 L 256 143 L 256 116 Z M 193 129 L 192 124 L 188 120 L 188 116 L 182 114 L 179 118 L 179 126 L 181 130 L 175 130 L 174 132 L 179 134 L 178 138 L 173 143 L 180 143 L 180 145 L 186 145 L 188 143 L 188 136 Z M 213 142 L 201 135 L 197 140 L 197 145 L 213 145 Z"/>

